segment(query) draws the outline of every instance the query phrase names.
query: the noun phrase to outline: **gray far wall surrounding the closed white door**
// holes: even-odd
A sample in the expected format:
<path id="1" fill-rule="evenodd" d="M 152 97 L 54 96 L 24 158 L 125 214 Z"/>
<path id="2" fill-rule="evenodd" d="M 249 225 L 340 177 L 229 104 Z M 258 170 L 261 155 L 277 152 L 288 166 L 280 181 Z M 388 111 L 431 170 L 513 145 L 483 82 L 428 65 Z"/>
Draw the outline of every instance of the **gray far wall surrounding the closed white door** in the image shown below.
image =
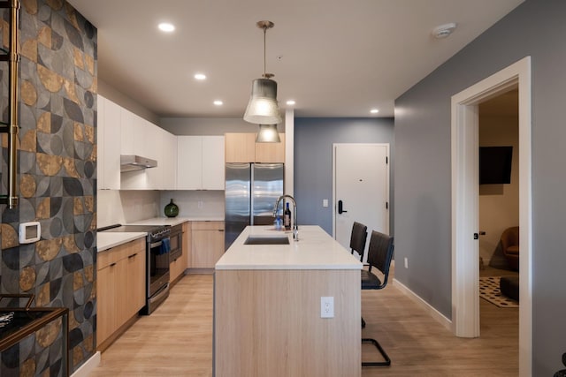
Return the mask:
<path id="1" fill-rule="evenodd" d="M 394 155 L 393 118 L 295 118 L 294 198 L 297 222 L 316 224 L 333 234 L 333 143 L 389 143 Z M 393 158 L 392 158 L 393 160 Z M 390 202 L 393 203 L 393 161 Z M 329 207 L 322 207 L 322 200 Z M 394 234 L 394 207 L 390 232 Z"/>

